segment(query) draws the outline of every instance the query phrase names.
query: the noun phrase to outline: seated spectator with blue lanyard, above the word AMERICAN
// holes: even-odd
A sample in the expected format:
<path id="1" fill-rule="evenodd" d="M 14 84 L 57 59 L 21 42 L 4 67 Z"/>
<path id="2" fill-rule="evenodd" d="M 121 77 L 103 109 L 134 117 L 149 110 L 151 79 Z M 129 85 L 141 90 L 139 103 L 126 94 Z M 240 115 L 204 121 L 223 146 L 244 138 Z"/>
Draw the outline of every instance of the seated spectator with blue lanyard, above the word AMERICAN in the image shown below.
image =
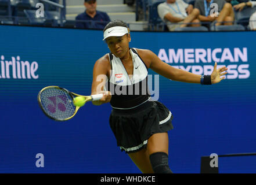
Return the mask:
<path id="1" fill-rule="evenodd" d="M 212 3 L 216 3 L 218 6 L 212 6 Z M 216 22 L 215 25 L 232 25 L 232 21 L 235 19 L 235 14 L 230 3 L 225 0 L 196 0 L 194 8 L 199 9 L 199 20 L 201 22 Z M 212 9 L 218 8 L 218 12 L 212 12 Z M 228 23 L 221 23 L 221 22 Z"/>

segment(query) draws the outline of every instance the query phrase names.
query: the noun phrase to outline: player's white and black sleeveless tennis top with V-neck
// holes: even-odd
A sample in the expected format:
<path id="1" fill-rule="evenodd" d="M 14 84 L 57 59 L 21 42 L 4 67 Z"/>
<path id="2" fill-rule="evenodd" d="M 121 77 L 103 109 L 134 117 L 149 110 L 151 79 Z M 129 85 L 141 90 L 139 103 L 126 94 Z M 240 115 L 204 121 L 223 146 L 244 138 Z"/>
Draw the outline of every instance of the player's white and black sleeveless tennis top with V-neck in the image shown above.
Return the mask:
<path id="1" fill-rule="evenodd" d="M 147 88 L 147 66 L 139 57 L 135 49 L 129 49 L 134 64 L 132 76 L 128 73 L 122 64 L 120 58 L 109 53 L 111 64 L 110 79 L 106 90 L 112 94 L 110 104 L 114 109 L 132 109 L 150 98 Z"/>

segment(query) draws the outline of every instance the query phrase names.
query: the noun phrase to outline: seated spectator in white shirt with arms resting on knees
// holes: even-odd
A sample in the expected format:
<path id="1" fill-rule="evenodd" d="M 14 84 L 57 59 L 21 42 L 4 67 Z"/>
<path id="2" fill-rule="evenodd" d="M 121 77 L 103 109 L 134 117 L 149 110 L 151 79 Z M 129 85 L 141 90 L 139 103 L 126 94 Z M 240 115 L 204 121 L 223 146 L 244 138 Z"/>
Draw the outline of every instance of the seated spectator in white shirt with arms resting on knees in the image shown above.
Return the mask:
<path id="1" fill-rule="evenodd" d="M 200 21 L 197 19 L 197 16 L 199 16 L 199 10 L 193 9 L 193 5 L 189 5 L 183 0 L 167 0 L 157 6 L 157 11 L 159 17 L 164 21 L 164 23 L 167 23 L 167 27 L 170 31 L 174 31 L 177 27 L 186 27 L 188 25 L 192 27 L 200 26 Z"/>

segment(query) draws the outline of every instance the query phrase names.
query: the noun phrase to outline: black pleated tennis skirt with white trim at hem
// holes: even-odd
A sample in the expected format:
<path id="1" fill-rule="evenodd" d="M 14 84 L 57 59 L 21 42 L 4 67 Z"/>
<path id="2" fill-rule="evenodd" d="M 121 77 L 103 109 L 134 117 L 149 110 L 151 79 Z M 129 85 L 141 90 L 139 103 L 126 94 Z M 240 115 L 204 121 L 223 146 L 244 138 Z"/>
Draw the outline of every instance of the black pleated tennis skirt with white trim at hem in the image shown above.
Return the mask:
<path id="1" fill-rule="evenodd" d="M 109 121 L 117 146 L 133 153 L 146 147 L 151 135 L 173 129 L 172 118 L 163 103 L 147 101 L 133 109 L 113 109 Z"/>

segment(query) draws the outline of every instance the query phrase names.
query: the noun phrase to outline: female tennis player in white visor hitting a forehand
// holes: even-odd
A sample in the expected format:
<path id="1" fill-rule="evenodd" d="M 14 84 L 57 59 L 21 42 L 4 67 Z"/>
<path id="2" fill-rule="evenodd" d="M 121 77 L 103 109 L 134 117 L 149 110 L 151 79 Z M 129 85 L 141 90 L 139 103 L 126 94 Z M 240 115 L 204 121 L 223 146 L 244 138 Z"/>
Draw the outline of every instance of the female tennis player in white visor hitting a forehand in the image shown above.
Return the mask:
<path id="1" fill-rule="evenodd" d="M 130 48 L 129 29 L 120 20 L 107 24 L 103 32 L 110 53 L 99 58 L 93 68 L 92 94 L 104 93 L 93 104 L 110 102 L 113 108 L 110 127 L 117 145 L 141 172 L 172 173 L 168 165 L 167 133 L 173 128 L 172 113 L 163 103 L 150 101 L 145 86 L 147 70 L 179 82 L 215 84 L 225 78 L 221 76 L 226 75 L 224 71 L 228 68 L 217 69 L 215 63 L 212 74 L 204 76 L 176 69 L 150 50 Z M 107 86 L 103 87 L 105 83 Z"/>

